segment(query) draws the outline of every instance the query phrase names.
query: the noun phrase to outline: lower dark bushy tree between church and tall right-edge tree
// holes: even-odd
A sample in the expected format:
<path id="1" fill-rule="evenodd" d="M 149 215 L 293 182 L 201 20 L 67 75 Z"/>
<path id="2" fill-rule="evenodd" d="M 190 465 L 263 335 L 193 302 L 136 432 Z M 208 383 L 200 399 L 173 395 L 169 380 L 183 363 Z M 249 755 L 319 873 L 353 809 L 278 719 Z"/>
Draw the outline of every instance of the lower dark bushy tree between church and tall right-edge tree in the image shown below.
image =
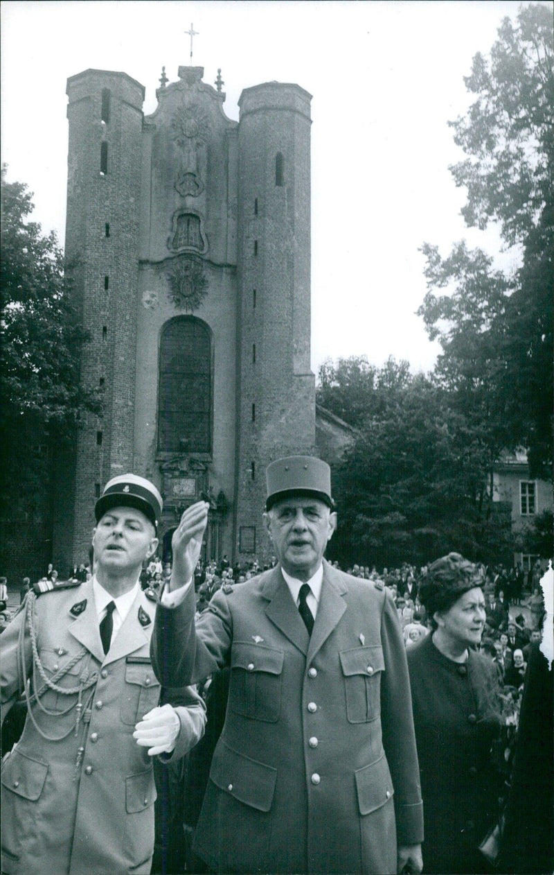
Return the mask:
<path id="1" fill-rule="evenodd" d="M 509 519 L 490 500 L 481 424 L 456 410 L 435 381 L 412 376 L 405 362 L 389 360 L 383 368 L 367 368 L 356 357 L 336 368 L 327 362 L 330 388 L 334 371 L 356 374 L 350 391 L 359 404 L 352 423 L 359 437 L 333 471 L 341 524 L 329 556 L 346 566 L 423 564 L 455 549 L 488 562 L 505 560 Z M 344 381 L 340 388 L 326 397 L 338 415 L 354 407 Z"/>

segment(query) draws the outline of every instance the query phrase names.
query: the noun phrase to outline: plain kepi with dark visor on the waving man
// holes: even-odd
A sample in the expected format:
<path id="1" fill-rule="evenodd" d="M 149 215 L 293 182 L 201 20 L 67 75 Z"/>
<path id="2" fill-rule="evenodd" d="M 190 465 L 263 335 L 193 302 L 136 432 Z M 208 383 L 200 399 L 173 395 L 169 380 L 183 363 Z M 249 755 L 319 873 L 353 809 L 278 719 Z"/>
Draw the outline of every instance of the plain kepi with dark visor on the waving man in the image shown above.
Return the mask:
<path id="1" fill-rule="evenodd" d="M 331 509 L 331 469 L 327 462 L 315 456 L 286 456 L 277 458 L 266 470 L 266 510 L 277 501 L 294 495 L 312 495 L 324 501 Z"/>

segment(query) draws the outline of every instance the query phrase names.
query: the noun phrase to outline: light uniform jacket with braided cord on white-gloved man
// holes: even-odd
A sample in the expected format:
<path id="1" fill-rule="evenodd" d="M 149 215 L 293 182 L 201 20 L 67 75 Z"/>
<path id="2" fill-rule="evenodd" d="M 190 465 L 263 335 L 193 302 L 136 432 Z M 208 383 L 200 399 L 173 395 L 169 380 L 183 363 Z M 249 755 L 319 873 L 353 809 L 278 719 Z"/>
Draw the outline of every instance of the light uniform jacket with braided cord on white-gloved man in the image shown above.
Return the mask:
<path id="1" fill-rule="evenodd" d="M 139 591 L 107 655 L 100 642 L 92 580 L 45 592 L 35 608 L 36 647 L 45 676 L 79 694 L 46 689 L 2 766 L 2 872 L 120 875 L 149 872 L 154 849 L 153 758 L 133 738 L 135 724 L 160 699 L 149 660 L 156 606 Z M 17 701 L 33 672 L 25 609 L 2 635 L 2 703 Z M 32 688 L 31 688 L 32 689 Z M 35 687 L 36 689 L 36 687 Z M 181 731 L 170 758 L 202 736 L 204 704 L 174 690 Z M 45 711 L 46 709 L 46 711 Z M 45 738 L 47 736 L 48 738 Z M 57 740 L 52 740 L 57 739 Z"/>

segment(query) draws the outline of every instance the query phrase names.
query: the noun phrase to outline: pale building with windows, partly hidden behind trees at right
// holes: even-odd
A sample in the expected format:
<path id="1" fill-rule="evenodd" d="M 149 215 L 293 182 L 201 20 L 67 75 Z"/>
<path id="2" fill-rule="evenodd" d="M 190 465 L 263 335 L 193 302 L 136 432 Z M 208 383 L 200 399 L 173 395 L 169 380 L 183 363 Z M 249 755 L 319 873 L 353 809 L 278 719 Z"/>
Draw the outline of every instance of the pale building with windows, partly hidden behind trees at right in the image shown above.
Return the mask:
<path id="1" fill-rule="evenodd" d="M 495 463 L 493 500 L 502 502 L 509 510 L 516 543 L 524 543 L 526 528 L 532 525 L 538 514 L 551 510 L 554 506 L 552 484 L 546 480 L 530 479 L 527 452 L 523 449 L 515 453 L 504 452 Z M 541 557 L 523 549 L 514 554 L 514 564 L 521 565 L 523 570 L 528 571 L 537 558 Z"/>

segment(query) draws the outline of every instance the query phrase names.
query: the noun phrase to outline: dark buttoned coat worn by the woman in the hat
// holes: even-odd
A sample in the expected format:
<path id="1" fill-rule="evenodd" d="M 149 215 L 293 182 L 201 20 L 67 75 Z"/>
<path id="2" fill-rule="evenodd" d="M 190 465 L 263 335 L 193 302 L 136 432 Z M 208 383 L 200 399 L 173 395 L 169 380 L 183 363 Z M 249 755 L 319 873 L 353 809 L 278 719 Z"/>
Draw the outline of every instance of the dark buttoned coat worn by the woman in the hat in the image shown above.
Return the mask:
<path id="1" fill-rule="evenodd" d="M 491 757 L 501 726 L 495 666 L 473 650 L 467 662 L 452 662 L 433 634 L 407 655 L 426 812 L 424 871 L 482 872 L 477 847 L 500 790 Z"/>

